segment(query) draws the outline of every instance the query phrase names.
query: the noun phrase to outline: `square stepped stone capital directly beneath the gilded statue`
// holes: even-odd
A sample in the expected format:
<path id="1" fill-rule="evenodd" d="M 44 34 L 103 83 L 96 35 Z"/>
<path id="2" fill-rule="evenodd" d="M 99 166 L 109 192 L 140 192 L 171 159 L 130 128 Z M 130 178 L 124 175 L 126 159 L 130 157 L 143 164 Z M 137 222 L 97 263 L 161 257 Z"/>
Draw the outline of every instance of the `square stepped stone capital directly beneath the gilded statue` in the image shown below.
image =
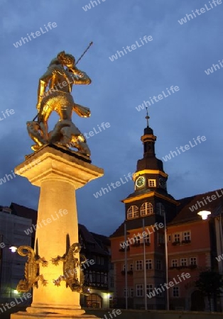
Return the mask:
<path id="1" fill-rule="evenodd" d="M 61 180 L 79 189 L 89 181 L 104 175 L 104 169 L 91 164 L 89 157 L 62 145 L 48 144 L 26 157 L 15 168 L 15 173 L 26 177 L 31 184 L 41 186 L 46 180 Z"/>

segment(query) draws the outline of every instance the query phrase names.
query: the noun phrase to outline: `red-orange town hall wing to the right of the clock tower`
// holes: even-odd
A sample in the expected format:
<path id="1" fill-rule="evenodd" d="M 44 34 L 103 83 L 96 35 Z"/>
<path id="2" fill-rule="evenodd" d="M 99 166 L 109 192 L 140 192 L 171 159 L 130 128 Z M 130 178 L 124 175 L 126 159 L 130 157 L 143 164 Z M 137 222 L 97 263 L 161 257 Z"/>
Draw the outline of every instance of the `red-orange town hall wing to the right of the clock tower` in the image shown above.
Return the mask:
<path id="1" fill-rule="evenodd" d="M 195 286 L 200 272 L 210 270 L 222 274 L 222 198 L 221 190 L 182 198 L 178 215 L 168 223 L 168 276 L 178 279 L 187 272 L 190 279 L 170 289 L 170 308 L 209 310 L 207 298 Z M 210 198 L 210 201 L 208 201 Z M 212 200 L 214 198 L 214 200 Z M 206 203 L 205 203 L 206 201 Z M 210 211 L 202 220 L 200 211 Z M 217 248 L 218 247 L 218 248 Z M 222 256 L 222 259 L 218 256 Z M 221 298 L 214 302 L 212 310 L 222 311 Z"/>

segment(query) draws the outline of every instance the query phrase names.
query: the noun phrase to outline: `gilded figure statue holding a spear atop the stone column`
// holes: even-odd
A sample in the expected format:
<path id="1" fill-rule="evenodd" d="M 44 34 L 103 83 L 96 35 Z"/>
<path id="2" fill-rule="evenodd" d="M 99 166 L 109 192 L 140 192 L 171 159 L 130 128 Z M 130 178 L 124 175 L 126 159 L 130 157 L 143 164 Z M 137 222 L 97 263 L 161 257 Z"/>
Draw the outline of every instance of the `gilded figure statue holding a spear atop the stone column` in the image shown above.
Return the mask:
<path id="1" fill-rule="evenodd" d="M 32 150 L 36 151 L 48 143 L 59 143 L 66 147 L 76 147 L 83 155 L 90 156 L 84 135 L 72 123 L 72 111 L 87 118 L 90 116 L 90 110 L 75 103 L 71 91 L 73 84 L 91 84 L 91 82 L 85 72 L 77 69 L 75 57 L 65 51 L 58 53 L 58 56 L 50 62 L 47 71 L 39 79 L 36 106 L 38 121 L 33 119 L 27 122 L 28 134 L 36 143 L 32 145 Z M 53 130 L 48 132 L 48 118 L 53 111 L 58 113 L 60 120 Z"/>

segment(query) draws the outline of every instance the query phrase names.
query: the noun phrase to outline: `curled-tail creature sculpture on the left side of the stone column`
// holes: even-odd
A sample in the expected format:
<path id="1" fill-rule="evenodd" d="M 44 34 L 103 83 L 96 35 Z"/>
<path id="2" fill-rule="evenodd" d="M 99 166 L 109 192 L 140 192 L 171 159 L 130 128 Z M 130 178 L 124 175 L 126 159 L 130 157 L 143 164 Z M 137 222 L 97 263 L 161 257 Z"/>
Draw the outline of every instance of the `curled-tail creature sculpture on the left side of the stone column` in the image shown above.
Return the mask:
<path id="1" fill-rule="evenodd" d="M 36 255 L 30 246 L 18 247 L 18 254 L 23 257 L 28 257 L 28 261 L 25 265 L 25 279 L 18 282 L 16 290 L 19 292 L 27 292 L 33 285 L 38 287 L 38 280 L 42 282 L 43 286 L 46 286 L 47 281 L 43 278 L 43 275 L 39 274 L 39 270 L 40 264 L 43 267 L 47 267 L 48 262 L 44 258 L 40 258 Z"/>

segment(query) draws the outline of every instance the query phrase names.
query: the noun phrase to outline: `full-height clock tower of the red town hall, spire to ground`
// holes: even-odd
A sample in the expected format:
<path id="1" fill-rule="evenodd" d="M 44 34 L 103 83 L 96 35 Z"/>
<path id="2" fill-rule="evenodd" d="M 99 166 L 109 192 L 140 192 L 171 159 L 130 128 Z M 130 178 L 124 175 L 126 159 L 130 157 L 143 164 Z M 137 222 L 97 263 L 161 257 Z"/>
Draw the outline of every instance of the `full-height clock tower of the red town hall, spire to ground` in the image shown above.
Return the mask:
<path id="1" fill-rule="evenodd" d="M 165 309 L 164 291 L 151 299 L 145 297 L 167 282 L 165 248 L 170 239 L 166 240 L 165 221 L 168 223 L 175 217 L 178 201 L 168 194 L 168 174 L 163 170 L 161 159 L 156 158 L 156 136 L 148 119 L 147 113 L 147 125 L 141 136 L 143 158 L 138 159 L 133 175 L 134 192 L 122 201 L 125 204 L 124 223 L 110 238 L 118 306 L 124 308 L 127 291 L 127 296 L 132 297 L 128 301 L 130 308 L 140 309 L 146 302 L 148 309 Z"/>

